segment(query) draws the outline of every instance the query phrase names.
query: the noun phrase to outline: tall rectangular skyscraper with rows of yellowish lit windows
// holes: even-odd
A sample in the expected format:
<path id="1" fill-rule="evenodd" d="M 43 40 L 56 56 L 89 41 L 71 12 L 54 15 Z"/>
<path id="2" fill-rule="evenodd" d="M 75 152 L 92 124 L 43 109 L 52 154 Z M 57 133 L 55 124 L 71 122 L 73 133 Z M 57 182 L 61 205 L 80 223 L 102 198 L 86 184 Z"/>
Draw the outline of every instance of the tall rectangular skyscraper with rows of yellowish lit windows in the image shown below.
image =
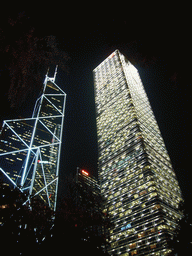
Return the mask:
<path id="1" fill-rule="evenodd" d="M 181 191 L 137 69 L 118 51 L 94 71 L 101 193 L 109 252 L 167 255 Z"/>

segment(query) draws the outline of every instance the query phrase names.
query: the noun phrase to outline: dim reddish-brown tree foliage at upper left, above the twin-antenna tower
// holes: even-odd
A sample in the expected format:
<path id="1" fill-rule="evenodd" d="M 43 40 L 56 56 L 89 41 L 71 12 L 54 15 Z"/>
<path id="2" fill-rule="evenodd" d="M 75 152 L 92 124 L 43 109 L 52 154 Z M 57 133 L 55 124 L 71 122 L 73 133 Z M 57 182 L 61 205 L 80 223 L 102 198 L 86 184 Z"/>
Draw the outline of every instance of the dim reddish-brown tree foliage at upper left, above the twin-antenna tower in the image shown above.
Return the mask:
<path id="1" fill-rule="evenodd" d="M 50 66 L 66 71 L 67 54 L 53 35 L 39 36 L 25 12 L 9 17 L 0 28 L 0 57 L 5 60 L 2 70 L 8 70 L 11 107 L 20 106 L 30 95 L 36 96 Z"/>

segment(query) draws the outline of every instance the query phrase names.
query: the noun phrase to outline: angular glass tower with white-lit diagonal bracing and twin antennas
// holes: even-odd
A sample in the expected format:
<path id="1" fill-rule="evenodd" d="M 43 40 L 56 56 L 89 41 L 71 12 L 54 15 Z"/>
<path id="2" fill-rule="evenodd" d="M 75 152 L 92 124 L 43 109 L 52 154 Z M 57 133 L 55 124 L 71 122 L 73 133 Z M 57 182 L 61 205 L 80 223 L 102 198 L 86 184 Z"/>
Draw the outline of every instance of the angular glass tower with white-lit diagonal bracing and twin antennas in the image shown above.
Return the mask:
<path id="1" fill-rule="evenodd" d="M 31 118 L 3 122 L 0 170 L 9 182 L 56 209 L 66 94 L 46 75 Z"/>

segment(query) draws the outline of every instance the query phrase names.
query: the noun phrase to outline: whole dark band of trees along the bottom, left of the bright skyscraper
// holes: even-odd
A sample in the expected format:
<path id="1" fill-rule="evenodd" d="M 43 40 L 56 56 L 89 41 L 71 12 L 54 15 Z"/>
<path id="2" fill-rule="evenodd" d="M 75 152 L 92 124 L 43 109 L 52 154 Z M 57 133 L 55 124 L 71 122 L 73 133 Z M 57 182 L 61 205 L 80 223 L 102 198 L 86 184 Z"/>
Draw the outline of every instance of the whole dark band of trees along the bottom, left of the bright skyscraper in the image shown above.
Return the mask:
<path id="1" fill-rule="evenodd" d="M 26 195 L 1 183 L 2 255 L 54 255 L 56 251 L 65 255 L 69 251 L 70 255 L 107 256 L 111 223 L 109 216 L 102 211 L 102 198 L 95 198 L 89 191 L 86 194 L 88 200 L 77 204 L 74 193 L 79 188 L 73 183 L 71 188 L 71 197 L 66 197 L 60 210 L 54 213 L 38 198 L 32 198 L 30 205 L 24 204 Z"/>

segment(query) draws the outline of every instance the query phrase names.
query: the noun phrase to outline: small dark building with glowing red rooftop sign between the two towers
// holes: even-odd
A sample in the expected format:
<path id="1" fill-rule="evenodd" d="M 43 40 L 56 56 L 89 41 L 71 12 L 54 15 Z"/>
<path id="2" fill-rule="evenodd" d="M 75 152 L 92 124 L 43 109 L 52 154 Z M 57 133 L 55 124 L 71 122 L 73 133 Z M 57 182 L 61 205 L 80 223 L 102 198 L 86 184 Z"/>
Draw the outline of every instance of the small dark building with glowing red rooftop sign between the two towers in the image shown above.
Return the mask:
<path id="1" fill-rule="evenodd" d="M 84 231 L 90 234 L 90 238 L 100 240 L 99 247 L 106 251 L 109 241 L 110 221 L 107 213 L 104 213 L 104 198 L 101 196 L 100 186 L 95 177 L 86 170 L 77 168 L 76 178 L 76 207 L 83 209 L 90 222 L 86 221 Z M 89 239 L 88 239 L 89 240 Z"/>

